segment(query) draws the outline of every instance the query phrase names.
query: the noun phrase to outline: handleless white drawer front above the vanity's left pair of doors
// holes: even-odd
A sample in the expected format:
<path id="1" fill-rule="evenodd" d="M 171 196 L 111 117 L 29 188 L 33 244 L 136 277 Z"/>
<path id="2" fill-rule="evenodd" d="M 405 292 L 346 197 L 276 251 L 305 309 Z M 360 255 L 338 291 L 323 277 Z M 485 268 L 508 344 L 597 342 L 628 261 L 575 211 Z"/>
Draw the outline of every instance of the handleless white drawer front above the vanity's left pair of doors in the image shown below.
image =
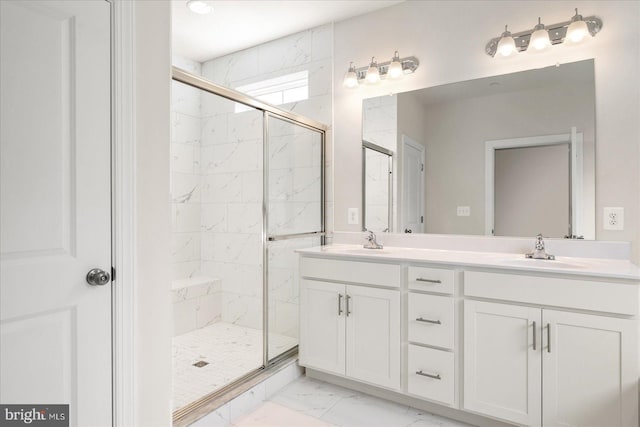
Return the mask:
<path id="1" fill-rule="evenodd" d="M 397 264 L 302 257 L 300 274 L 321 280 L 400 287 L 400 266 Z"/>

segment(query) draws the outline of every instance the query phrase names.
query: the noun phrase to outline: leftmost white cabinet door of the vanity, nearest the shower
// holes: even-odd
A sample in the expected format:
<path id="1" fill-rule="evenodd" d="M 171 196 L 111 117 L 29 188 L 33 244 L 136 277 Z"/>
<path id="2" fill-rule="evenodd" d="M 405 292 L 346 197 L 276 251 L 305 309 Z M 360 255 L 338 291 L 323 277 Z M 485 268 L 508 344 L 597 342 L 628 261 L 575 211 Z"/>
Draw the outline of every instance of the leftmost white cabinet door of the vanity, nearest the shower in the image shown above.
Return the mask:
<path id="1" fill-rule="evenodd" d="M 345 299 L 345 285 L 301 280 L 301 365 L 344 375 Z"/>

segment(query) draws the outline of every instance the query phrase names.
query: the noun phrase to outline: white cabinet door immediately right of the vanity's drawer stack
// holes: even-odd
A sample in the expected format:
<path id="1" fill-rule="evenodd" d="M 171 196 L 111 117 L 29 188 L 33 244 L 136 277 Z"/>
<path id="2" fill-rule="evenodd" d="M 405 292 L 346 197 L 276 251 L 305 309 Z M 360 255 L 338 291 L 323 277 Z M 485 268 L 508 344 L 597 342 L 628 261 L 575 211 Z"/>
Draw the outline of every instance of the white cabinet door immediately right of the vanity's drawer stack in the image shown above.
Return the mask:
<path id="1" fill-rule="evenodd" d="M 541 425 L 540 323 L 539 308 L 464 302 L 466 409 Z"/>

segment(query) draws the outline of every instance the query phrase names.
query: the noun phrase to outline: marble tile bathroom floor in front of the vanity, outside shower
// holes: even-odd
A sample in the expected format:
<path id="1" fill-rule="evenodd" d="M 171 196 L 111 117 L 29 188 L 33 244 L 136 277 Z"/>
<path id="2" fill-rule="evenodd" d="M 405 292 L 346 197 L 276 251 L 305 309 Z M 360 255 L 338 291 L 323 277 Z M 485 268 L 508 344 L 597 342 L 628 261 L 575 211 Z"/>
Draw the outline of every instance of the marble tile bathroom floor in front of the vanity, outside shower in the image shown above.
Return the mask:
<path id="1" fill-rule="evenodd" d="M 215 415 L 192 427 L 470 427 L 308 377 L 245 411 L 236 407 Z"/>

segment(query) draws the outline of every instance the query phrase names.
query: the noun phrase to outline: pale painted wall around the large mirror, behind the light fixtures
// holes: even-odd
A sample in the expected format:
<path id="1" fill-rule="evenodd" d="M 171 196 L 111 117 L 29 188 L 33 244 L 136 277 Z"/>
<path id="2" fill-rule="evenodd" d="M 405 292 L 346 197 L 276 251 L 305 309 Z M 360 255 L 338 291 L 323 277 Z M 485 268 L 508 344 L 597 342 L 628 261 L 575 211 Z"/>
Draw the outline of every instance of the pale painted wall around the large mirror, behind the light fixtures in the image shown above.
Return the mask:
<path id="1" fill-rule="evenodd" d="M 505 23 L 514 31 L 531 28 L 538 16 L 547 23 L 569 19 L 578 7 L 597 15 L 603 30 L 580 46 L 555 46 L 546 53 L 498 60 L 484 53 L 486 42 Z M 461 11 L 464 10 L 464 13 Z M 334 179 L 335 229 L 347 224 L 347 208 L 360 205 L 359 164 L 362 99 L 389 92 L 546 67 L 557 62 L 595 59 L 596 75 L 596 238 L 634 241 L 640 259 L 640 3 L 625 1 L 409 1 L 335 24 L 334 33 Z M 371 31 L 375 28 L 375 31 Z M 363 37 L 362 34 L 367 34 Z M 417 72 L 391 85 L 344 89 L 349 62 L 358 66 L 371 56 L 379 61 L 415 55 Z M 625 208 L 625 230 L 604 231 L 602 208 Z"/>

